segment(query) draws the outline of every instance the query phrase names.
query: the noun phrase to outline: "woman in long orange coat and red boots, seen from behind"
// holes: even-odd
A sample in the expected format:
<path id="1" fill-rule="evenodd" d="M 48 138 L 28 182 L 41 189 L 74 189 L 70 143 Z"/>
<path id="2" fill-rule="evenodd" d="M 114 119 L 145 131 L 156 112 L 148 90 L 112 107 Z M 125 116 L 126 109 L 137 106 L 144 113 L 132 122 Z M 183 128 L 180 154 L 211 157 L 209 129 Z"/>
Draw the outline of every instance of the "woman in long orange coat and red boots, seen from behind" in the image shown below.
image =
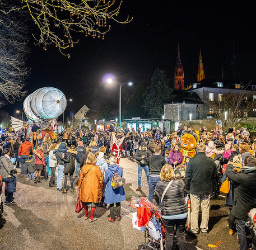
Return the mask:
<path id="1" fill-rule="evenodd" d="M 97 160 L 95 154 L 89 153 L 85 166 L 78 180 L 78 190 L 80 190 L 80 199 L 85 209 L 85 219 L 89 218 L 88 207 L 91 207 L 90 221 L 95 221 L 94 213 L 96 204 L 101 201 L 103 195 L 104 176 L 99 166 L 96 166 Z"/>

